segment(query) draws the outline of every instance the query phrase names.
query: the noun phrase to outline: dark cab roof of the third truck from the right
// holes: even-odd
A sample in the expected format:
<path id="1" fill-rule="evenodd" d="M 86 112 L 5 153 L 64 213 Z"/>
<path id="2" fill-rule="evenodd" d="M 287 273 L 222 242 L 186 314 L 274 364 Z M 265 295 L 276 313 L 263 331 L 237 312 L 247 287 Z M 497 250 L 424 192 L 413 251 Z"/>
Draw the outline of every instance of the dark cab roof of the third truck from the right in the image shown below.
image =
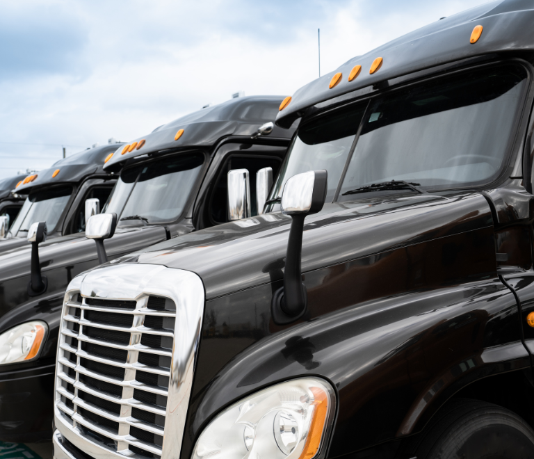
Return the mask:
<path id="1" fill-rule="evenodd" d="M 104 170 L 104 160 L 106 157 L 117 150 L 118 145 L 122 143 L 113 143 L 111 145 L 104 145 L 102 147 L 94 147 L 90 150 L 83 150 L 83 152 L 72 154 L 67 158 L 56 161 L 51 168 L 40 170 L 34 174 L 28 175 L 25 178 L 28 179 L 27 183 L 20 184 L 15 188 L 17 193 L 30 193 L 33 189 L 52 185 L 52 184 L 73 184 L 78 183 L 90 174 L 102 173 Z M 54 173 L 59 172 L 53 177 Z M 35 175 L 34 179 L 31 179 Z"/>

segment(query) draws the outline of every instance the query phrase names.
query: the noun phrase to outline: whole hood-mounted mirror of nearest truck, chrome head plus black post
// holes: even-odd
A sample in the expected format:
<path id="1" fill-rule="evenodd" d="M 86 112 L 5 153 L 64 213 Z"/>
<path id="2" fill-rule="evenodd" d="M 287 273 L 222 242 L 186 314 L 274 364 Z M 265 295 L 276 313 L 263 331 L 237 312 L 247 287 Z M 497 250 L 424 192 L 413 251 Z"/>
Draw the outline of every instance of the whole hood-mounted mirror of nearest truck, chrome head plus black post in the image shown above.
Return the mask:
<path id="1" fill-rule="evenodd" d="M 275 323 L 282 325 L 299 319 L 307 306 L 307 291 L 300 267 L 302 232 L 306 216 L 323 209 L 327 191 L 326 170 L 310 170 L 294 175 L 282 192 L 282 213 L 291 216 L 284 268 L 284 287 L 275 291 L 271 310 Z"/>

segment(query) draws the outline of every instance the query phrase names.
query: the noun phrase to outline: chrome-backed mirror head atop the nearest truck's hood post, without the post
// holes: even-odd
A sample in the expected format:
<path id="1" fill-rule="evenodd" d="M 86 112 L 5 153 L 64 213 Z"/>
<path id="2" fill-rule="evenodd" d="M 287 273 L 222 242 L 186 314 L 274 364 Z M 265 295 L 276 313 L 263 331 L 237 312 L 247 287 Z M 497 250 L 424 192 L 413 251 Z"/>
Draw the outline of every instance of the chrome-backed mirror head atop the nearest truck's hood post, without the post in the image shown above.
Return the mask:
<path id="1" fill-rule="evenodd" d="M 282 213 L 286 215 L 316 214 L 323 209 L 327 191 L 326 170 L 310 170 L 293 175 L 282 192 Z"/>

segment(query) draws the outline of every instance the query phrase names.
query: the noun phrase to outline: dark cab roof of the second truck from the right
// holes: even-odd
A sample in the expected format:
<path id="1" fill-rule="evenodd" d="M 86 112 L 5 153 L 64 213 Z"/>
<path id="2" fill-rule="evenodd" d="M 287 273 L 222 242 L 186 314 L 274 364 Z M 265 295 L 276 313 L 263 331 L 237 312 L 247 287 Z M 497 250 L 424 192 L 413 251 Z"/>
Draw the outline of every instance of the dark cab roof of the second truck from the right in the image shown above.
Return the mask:
<path id="1" fill-rule="evenodd" d="M 262 124 L 275 121 L 283 99 L 284 96 L 237 97 L 223 104 L 202 108 L 132 140 L 129 145 L 137 144 L 131 152 L 126 150 L 122 154 L 124 147 L 120 147 L 106 163 L 104 170 L 118 170 L 127 159 L 147 153 L 184 147 L 211 147 L 225 136 L 250 138 Z M 182 134 L 175 140 L 182 129 Z M 289 140 L 294 131 L 275 127 L 269 138 Z"/>

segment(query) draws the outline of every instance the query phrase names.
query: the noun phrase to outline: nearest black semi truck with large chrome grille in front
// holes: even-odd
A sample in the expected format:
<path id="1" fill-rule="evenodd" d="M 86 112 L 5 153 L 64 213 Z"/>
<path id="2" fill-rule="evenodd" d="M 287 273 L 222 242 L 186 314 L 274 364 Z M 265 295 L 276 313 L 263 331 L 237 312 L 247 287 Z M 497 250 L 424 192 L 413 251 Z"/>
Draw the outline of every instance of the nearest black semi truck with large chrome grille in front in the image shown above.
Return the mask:
<path id="1" fill-rule="evenodd" d="M 74 278 L 55 458 L 534 457 L 533 23 L 348 61 L 282 104 L 268 212 Z"/>

